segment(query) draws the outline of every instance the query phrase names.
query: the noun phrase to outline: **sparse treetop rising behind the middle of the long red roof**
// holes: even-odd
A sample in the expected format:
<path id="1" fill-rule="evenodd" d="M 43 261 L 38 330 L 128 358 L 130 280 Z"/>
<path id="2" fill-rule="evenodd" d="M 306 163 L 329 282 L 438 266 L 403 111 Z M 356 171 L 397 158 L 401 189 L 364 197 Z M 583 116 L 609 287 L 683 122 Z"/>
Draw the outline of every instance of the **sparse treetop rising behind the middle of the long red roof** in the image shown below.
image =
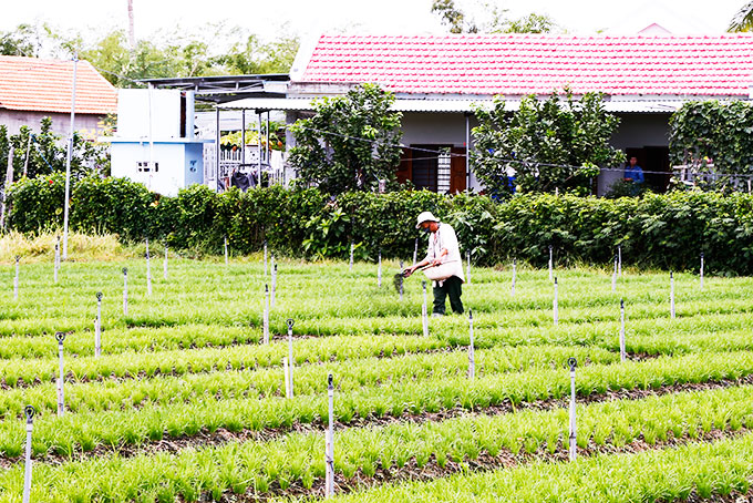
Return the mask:
<path id="1" fill-rule="evenodd" d="M 451 33 L 549 33 L 557 28 L 546 14 L 532 12 L 518 19 L 509 19 L 507 9 L 493 3 L 481 2 L 484 21 L 477 22 L 463 12 L 455 0 L 434 0 L 432 13 L 437 14 L 442 24 L 450 27 Z"/>

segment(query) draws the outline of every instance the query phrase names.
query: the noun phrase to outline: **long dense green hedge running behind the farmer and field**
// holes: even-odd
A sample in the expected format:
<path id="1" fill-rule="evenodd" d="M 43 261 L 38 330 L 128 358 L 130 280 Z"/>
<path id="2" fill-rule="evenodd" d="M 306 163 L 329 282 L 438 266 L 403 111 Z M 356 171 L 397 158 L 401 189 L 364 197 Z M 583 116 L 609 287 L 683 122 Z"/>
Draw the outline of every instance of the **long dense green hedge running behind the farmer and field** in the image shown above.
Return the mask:
<path id="1" fill-rule="evenodd" d="M 10 191 L 11 228 L 23 233 L 60 227 L 62 177 L 21 179 Z M 496 203 L 479 195 L 426 191 L 347 193 L 330 199 L 316 189 L 279 186 L 215 194 L 193 186 L 161 197 L 118 178 L 84 178 L 72 188 L 71 227 L 114 233 L 124 240 L 162 239 L 172 247 L 220 253 L 223 236 L 236 253 L 261 249 L 345 258 L 349 243 L 375 259 L 413 255 L 415 217 L 434 212 L 453 224 L 474 261 L 493 265 L 512 257 L 543 266 L 547 248 L 557 263 L 609 264 L 622 245 L 627 264 L 697 269 L 704 253 L 709 269 L 753 273 L 753 197 L 745 194 L 672 193 L 643 198 L 516 195 Z M 420 236 L 420 254 L 426 237 Z"/>

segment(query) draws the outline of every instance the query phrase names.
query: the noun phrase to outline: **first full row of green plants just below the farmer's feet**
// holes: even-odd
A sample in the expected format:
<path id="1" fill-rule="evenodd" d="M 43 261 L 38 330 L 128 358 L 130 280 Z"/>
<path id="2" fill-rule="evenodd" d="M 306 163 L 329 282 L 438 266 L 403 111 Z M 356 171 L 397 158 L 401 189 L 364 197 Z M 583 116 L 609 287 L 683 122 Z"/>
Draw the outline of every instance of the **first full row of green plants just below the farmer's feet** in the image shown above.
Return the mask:
<path id="1" fill-rule="evenodd" d="M 750 302 L 746 299 L 726 299 L 694 301 L 678 305 L 678 318 L 671 319 L 667 306 L 651 304 L 628 304 L 627 330 L 629 343 L 635 337 L 657 336 L 657 341 L 668 350 L 682 342 L 682 336 L 744 330 L 750 322 Z M 0 359 L 51 358 L 56 355 L 56 341 L 53 338 L 55 327 L 70 326 L 74 331 L 65 339 L 65 351 L 78 357 L 93 355 L 93 321 L 85 319 L 91 312 L 83 312 L 80 318 L 48 318 L 43 322 L 32 324 L 34 331 L 21 331 L 24 324 L 4 325 L 8 331 L 2 337 Z M 296 318 L 296 337 L 323 337 L 336 340 L 363 340 L 363 338 L 383 336 L 388 338 L 415 336 L 422 332 L 420 306 L 410 317 L 388 316 L 359 319 L 323 317 L 316 319 Z M 165 324 L 163 327 L 127 327 L 105 326 L 102 336 L 104 355 L 116 356 L 132 351 L 155 352 L 185 348 L 226 347 L 236 345 L 256 345 L 261 340 L 261 329 L 225 325 L 225 320 L 214 324 L 198 325 Z M 48 327 L 49 331 L 40 331 Z M 272 333 L 283 336 L 286 318 L 276 316 L 271 324 Z M 551 311 L 537 309 L 507 310 L 501 312 L 476 311 L 476 345 L 494 343 L 525 345 L 547 343 L 604 343 L 613 338 L 619 330 L 619 301 L 612 306 L 591 309 L 567 309 L 560 311 L 560 322 L 556 327 L 551 322 Z M 20 333 L 18 333 L 20 331 Z M 18 333 L 18 335 L 14 335 Z M 465 317 L 447 317 L 431 319 L 430 333 L 448 346 L 467 343 L 467 319 Z M 33 336 L 33 337 L 30 337 Z M 661 339 L 659 338 L 661 336 Z M 675 340 L 680 336 L 680 340 Z M 327 343 L 312 342 L 311 343 Z M 307 342 L 309 343 L 309 342 Z M 336 342 L 337 343 L 337 342 Z M 388 342 L 391 343 L 391 342 Z M 608 342 L 607 342 L 608 343 Z M 646 347 L 656 351 L 656 347 Z M 347 349 L 338 348 L 338 352 L 347 353 Z M 389 350 L 388 350 L 389 351 Z M 261 357 L 260 357 L 261 358 Z M 81 363 L 83 365 L 83 363 Z"/>

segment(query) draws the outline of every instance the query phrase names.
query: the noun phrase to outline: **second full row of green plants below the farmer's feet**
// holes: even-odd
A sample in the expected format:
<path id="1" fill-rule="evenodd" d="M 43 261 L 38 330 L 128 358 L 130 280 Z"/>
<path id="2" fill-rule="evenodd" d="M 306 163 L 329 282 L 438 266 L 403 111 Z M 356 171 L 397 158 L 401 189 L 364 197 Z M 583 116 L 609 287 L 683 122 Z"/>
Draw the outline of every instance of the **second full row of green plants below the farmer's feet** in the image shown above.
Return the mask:
<path id="1" fill-rule="evenodd" d="M 749 316 L 741 315 L 715 315 L 712 317 L 697 317 L 683 320 L 683 322 L 654 324 L 652 320 L 629 322 L 626 329 L 626 348 L 630 355 L 684 355 L 692 352 L 723 352 L 733 350 L 753 349 L 753 342 L 749 337 Z M 213 329 L 214 332 L 216 329 Z M 171 329 L 184 343 L 183 331 Z M 569 328 L 547 327 L 513 327 L 505 330 L 476 329 L 474 346 L 477 349 L 505 348 L 499 358 L 506 365 L 518 365 L 520 358 L 527 359 L 527 363 L 519 363 L 519 368 L 527 365 L 541 365 L 550 358 L 553 343 L 560 347 L 561 351 L 580 352 L 581 346 L 586 346 L 594 353 L 606 358 L 604 350 L 617 352 L 619 343 L 617 333 L 619 324 L 612 322 L 605 326 L 577 326 Z M 152 331 L 158 337 L 161 331 Z M 70 338 L 71 336 L 69 336 Z M 127 332 L 115 333 L 115 341 L 127 337 Z M 2 383 L 10 388 L 37 386 L 42 382 L 51 382 L 56 377 L 58 358 L 56 341 L 52 337 L 44 340 L 41 357 L 35 357 L 38 351 L 31 341 L 24 355 L 20 351 L 10 355 L 10 359 L 0 360 L 0 374 Z M 23 338 L 29 340 L 29 338 Z M 146 338 L 148 341 L 154 339 Z M 41 342 L 41 341 L 39 341 Z M 257 340 L 247 345 L 230 345 L 217 347 L 214 342 L 197 343 L 196 349 L 164 349 L 159 346 L 168 346 L 164 341 L 154 340 L 149 346 L 136 349 L 127 348 L 124 351 L 114 351 L 112 346 L 103 346 L 104 356 L 94 358 L 92 335 L 87 333 L 85 340 L 78 338 L 78 343 L 68 345 L 66 352 L 75 355 L 69 358 L 65 370 L 70 382 L 96 381 L 102 379 L 128 379 L 168 374 L 183 376 L 189 373 L 203 373 L 221 370 L 258 369 L 280 366 L 280 361 L 287 356 L 287 342 L 271 345 L 257 345 Z M 468 345 L 467 333 L 452 331 L 448 335 L 431 335 L 430 337 L 402 335 L 388 336 L 332 336 L 326 338 L 307 338 L 295 341 L 296 365 L 320 362 L 359 361 L 364 358 L 394 358 L 411 353 L 432 353 L 447 351 Z M 8 345 L 14 348 L 16 345 Z M 221 346 L 221 345 L 220 345 Z M 599 350 L 598 348 L 601 348 Z M 39 351 L 42 352 L 42 351 Z M 561 357 L 561 356 L 560 356 Z M 434 357 L 440 358 L 440 357 Z M 434 359 L 432 358 L 432 359 Z M 461 357 L 458 361 L 462 361 Z M 613 357 L 612 357 L 613 358 Z M 561 358 L 555 359 L 557 361 Z M 592 358 L 591 358 L 592 360 Z M 606 360 L 605 360 L 606 361 Z M 451 365 L 451 362 L 447 362 Z M 452 365 L 461 365 L 458 362 Z M 498 362 L 496 365 L 502 365 Z M 2 408 L 0 408 L 2 409 Z M 9 410 L 12 407 L 8 408 Z M 0 415 L 2 412 L 0 411 Z"/>

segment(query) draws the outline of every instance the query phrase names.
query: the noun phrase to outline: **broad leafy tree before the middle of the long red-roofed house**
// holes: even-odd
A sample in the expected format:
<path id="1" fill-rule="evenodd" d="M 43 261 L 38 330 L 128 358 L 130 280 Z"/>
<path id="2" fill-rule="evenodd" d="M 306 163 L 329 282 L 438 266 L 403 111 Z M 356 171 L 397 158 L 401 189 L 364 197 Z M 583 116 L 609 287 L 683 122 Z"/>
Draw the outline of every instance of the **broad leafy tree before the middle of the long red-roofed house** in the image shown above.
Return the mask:
<path id="1" fill-rule="evenodd" d="M 497 197 L 522 192 L 590 193 L 597 166 L 616 166 L 625 154 L 608 144 L 619 119 L 604 110 L 600 93 L 575 100 L 551 93 L 520 101 L 515 113 L 499 96 L 491 111 L 476 110 L 472 170 Z"/>

